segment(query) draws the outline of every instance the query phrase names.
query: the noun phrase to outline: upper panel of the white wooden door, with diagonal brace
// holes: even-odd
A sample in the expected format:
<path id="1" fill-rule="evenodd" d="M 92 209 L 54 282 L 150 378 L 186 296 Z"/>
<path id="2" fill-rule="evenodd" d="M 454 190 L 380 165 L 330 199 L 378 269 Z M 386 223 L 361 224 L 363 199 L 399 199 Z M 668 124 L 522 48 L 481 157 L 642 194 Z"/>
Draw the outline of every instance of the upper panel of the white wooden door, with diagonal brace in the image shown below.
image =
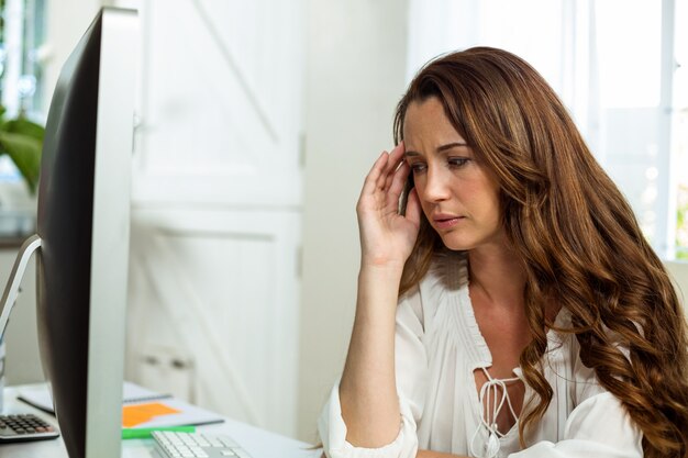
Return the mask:
<path id="1" fill-rule="evenodd" d="M 300 203 L 299 3 L 144 2 L 136 201 Z"/>

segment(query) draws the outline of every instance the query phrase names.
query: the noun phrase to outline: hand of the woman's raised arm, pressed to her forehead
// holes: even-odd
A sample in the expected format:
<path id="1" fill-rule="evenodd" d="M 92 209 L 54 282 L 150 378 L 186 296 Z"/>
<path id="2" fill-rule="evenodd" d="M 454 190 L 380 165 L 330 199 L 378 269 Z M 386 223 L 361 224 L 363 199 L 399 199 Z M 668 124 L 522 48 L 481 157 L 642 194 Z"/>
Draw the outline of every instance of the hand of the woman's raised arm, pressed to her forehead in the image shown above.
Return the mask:
<path id="1" fill-rule="evenodd" d="M 415 190 L 409 193 L 406 215 L 399 214 L 399 196 L 411 171 L 403 153 L 403 143 L 384 152 L 363 185 L 356 205 L 362 266 L 403 267 L 415 244 L 421 220 Z"/>

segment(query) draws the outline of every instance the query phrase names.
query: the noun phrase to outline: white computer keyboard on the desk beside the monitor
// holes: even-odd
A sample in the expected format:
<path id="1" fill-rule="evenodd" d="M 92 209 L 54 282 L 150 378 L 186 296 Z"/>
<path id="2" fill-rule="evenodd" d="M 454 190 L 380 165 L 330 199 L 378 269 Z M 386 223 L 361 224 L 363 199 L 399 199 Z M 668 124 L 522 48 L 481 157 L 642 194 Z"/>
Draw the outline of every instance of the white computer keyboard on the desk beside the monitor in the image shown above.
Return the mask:
<path id="1" fill-rule="evenodd" d="M 229 436 L 202 433 L 152 433 L 163 458 L 252 458 Z"/>

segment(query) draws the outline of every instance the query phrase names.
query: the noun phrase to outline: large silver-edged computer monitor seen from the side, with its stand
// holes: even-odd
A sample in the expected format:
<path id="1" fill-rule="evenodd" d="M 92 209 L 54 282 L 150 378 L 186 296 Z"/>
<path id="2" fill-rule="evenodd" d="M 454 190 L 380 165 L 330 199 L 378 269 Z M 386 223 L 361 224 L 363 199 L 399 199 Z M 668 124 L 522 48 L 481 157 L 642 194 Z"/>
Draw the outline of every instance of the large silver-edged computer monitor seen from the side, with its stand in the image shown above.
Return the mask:
<path id="1" fill-rule="evenodd" d="M 65 63 L 41 164 L 38 344 L 70 458 L 120 458 L 137 18 L 103 8 Z M 22 260 L 23 259 L 23 260 Z M 23 264 L 23 267 L 22 267 Z"/>

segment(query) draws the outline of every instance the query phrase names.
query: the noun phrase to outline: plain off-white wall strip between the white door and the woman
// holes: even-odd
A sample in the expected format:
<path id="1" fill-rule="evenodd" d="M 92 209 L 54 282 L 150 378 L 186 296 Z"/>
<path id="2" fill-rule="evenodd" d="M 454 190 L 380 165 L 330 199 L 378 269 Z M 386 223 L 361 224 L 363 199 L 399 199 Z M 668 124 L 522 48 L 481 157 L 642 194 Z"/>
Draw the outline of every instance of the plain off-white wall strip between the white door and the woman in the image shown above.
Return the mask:
<path id="1" fill-rule="evenodd" d="M 344 365 L 359 248 L 355 205 L 373 160 L 392 145 L 404 90 L 407 1 L 308 2 L 306 182 L 299 438 Z"/>

